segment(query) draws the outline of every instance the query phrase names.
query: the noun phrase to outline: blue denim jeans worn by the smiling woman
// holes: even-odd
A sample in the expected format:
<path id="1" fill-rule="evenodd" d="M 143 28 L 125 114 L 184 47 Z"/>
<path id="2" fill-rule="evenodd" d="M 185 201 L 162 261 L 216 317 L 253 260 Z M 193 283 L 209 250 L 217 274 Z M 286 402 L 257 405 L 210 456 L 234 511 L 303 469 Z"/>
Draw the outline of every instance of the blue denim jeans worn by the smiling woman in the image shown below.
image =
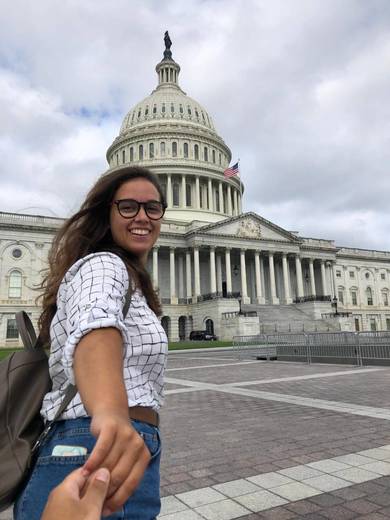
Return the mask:
<path id="1" fill-rule="evenodd" d="M 96 439 L 90 433 L 89 417 L 58 421 L 41 446 L 36 464 L 25 488 L 14 506 L 15 520 L 39 520 L 53 488 L 73 470 L 83 466 L 88 455 L 52 456 L 57 445 L 84 446 L 89 454 Z M 108 519 L 152 520 L 160 512 L 160 452 L 158 428 L 132 421 L 133 427 L 143 437 L 152 459 L 134 494 L 124 506 Z"/>

